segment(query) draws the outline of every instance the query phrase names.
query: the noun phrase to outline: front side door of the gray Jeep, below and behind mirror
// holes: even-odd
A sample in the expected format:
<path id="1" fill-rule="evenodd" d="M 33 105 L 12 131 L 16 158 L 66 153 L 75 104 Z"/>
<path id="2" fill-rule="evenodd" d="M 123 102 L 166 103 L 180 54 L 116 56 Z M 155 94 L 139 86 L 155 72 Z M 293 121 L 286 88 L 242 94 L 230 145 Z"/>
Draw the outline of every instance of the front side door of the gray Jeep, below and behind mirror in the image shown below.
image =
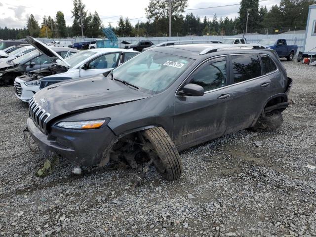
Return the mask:
<path id="1" fill-rule="evenodd" d="M 224 134 L 232 99 L 227 86 L 227 65 L 226 56 L 214 58 L 203 63 L 188 78 L 186 83 L 204 88 L 203 96 L 176 95 L 174 134 L 179 134 L 174 138 L 176 146 L 198 144 Z"/>

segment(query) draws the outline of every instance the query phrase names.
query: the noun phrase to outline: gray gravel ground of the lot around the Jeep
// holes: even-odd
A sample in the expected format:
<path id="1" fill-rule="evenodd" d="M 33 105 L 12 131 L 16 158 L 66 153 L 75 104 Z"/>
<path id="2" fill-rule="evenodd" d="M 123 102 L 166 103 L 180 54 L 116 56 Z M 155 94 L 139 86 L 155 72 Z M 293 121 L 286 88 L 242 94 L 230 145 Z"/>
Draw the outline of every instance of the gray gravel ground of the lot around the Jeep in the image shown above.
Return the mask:
<path id="1" fill-rule="evenodd" d="M 316 236 L 316 67 L 282 62 L 296 104 L 276 132 L 246 130 L 182 152 L 184 174 L 167 182 L 151 169 L 131 190 L 135 170 L 34 174 L 22 130 L 27 105 L 0 88 L 1 236 Z M 261 142 L 257 147 L 254 142 Z"/>

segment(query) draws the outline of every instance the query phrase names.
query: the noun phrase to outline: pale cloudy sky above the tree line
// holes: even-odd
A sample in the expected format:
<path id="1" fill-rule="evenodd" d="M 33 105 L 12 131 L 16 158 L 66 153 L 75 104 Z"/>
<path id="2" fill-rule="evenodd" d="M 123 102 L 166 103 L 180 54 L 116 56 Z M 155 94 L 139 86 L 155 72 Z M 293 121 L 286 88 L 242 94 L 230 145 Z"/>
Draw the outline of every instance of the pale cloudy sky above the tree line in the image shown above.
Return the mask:
<path id="1" fill-rule="evenodd" d="M 220 6 L 228 4 L 239 3 L 240 0 L 188 0 L 187 9 L 202 8 L 210 6 Z M 107 22 L 118 21 L 118 16 L 122 15 L 129 19 L 144 17 L 145 7 L 149 0 L 82 0 L 86 6 L 86 10 L 99 13 L 104 26 L 108 26 Z M 274 4 L 278 4 L 279 0 L 264 0 L 259 2 L 260 5 L 266 5 L 268 9 Z M 72 0 L 0 0 L 0 27 L 4 28 L 22 28 L 26 25 L 27 16 L 31 13 L 39 21 L 42 22 L 44 15 L 56 16 L 57 11 L 61 10 L 65 15 L 67 25 L 72 25 L 73 1 Z M 239 6 L 227 6 L 210 9 L 189 10 L 186 13 L 193 12 L 193 14 L 200 16 L 201 20 L 204 16 L 212 19 L 216 13 L 219 17 L 235 18 L 238 16 Z M 116 17 L 117 16 L 117 17 Z M 146 18 L 131 20 L 135 25 L 137 21 L 146 21 Z M 112 26 L 117 26 L 117 23 L 111 23 Z"/>

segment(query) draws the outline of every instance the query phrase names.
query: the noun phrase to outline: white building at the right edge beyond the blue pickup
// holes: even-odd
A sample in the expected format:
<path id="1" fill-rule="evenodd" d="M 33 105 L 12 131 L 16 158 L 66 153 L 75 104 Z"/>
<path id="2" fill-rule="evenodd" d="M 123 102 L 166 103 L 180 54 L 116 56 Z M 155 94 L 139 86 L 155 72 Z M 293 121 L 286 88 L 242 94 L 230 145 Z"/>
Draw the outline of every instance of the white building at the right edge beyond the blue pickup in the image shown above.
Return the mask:
<path id="1" fill-rule="evenodd" d="M 309 6 L 303 49 L 303 57 L 311 55 L 316 55 L 316 4 Z"/>

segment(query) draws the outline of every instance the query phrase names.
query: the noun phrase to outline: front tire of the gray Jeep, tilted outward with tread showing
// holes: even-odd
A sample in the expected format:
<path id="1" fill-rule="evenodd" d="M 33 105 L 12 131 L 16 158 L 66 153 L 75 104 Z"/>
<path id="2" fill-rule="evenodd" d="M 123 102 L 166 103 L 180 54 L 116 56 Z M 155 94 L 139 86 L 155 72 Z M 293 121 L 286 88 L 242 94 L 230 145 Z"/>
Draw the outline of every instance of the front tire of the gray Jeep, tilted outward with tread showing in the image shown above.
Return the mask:
<path id="1" fill-rule="evenodd" d="M 182 173 L 182 162 L 168 133 L 161 127 L 153 127 L 145 130 L 144 136 L 152 144 L 158 156 L 158 161 L 154 162 L 155 166 L 158 166 L 157 163 L 163 166 L 162 169 L 157 167 L 162 177 L 169 181 L 179 178 Z"/>

